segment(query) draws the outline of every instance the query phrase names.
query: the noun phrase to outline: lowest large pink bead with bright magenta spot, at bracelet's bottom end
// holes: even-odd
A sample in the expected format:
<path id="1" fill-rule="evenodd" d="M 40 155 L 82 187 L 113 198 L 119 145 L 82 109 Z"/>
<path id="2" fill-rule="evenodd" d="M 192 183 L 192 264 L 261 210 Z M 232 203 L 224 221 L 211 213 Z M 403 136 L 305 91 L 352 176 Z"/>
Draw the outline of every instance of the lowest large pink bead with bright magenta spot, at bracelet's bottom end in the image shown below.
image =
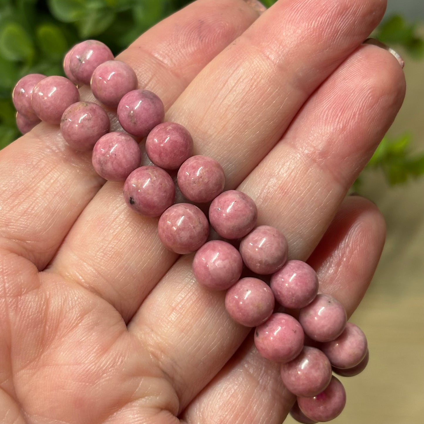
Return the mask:
<path id="1" fill-rule="evenodd" d="M 346 392 L 342 383 L 332 377 L 328 387 L 314 397 L 297 398 L 300 410 L 312 420 L 330 421 L 343 411 L 346 404 Z"/>

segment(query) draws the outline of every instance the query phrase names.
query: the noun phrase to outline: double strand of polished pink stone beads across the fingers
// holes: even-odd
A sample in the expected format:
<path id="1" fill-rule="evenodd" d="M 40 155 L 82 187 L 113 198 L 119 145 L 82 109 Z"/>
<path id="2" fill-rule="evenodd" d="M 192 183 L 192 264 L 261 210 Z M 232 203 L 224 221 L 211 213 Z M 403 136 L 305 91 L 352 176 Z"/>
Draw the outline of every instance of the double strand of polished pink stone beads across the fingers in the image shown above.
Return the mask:
<path id="1" fill-rule="evenodd" d="M 20 131 L 25 134 L 41 120 L 60 124 L 72 148 L 92 149 L 95 171 L 106 180 L 124 181 L 128 206 L 139 214 L 160 217 L 162 243 L 177 254 L 196 252 L 192 269 L 197 281 L 209 290 L 227 290 L 229 315 L 244 326 L 256 327 L 257 350 L 281 363 L 282 381 L 297 396 L 290 411 L 293 418 L 315 423 L 338 416 L 346 393 L 332 372 L 351 377 L 368 363 L 365 335 L 346 322 L 343 305 L 318 294 L 318 277 L 310 265 L 287 261 L 286 238 L 274 227 L 257 226 L 257 206 L 248 195 L 223 192 L 220 164 L 207 156 L 192 156 L 190 132 L 178 123 L 163 122 L 162 100 L 137 89 L 134 70 L 114 60 L 106 45 L 95 40 L 75 45 L 64 58 L 64 72 L 68 78 L 31 74 L 18 81 L 13 102 Z M 91 85 L 101 103 L 117 108 L 126 132 L 109 132 L 105 110 L 79 101 L 77 85 L 84 84 Z M 152 165 L 140 166 L 137 138 L 146 138 Z M 174 204 L 176 185 L 168 171 L 177 170 L 186 202 Z M 212 202 L 209 221 L 190 202 Z M 220 240 L 207 241 L 209 223 Z M 254 276 L 241 278 L 243 270 Z M 270 285 L 259 276 L 271 276 Z"/>

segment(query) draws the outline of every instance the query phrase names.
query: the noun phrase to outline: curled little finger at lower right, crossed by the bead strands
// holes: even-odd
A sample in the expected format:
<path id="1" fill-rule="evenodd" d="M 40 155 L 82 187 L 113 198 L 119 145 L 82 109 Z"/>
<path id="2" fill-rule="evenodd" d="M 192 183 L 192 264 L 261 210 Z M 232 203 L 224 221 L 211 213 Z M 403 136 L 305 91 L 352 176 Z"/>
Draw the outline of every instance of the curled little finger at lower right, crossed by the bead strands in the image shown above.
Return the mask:
<path id="1" fill-rule="evenodd" d="M 338 298 L 349 315 L 371 281 L 384 240 L 384 219 L 377 207 L 348 197 L 312 254 L 320 290 Z M 282 384 L 279 368 L 259 355 L 249 335 L 181 417 L 188 424 L 281 424 L 294 396 Z"/>

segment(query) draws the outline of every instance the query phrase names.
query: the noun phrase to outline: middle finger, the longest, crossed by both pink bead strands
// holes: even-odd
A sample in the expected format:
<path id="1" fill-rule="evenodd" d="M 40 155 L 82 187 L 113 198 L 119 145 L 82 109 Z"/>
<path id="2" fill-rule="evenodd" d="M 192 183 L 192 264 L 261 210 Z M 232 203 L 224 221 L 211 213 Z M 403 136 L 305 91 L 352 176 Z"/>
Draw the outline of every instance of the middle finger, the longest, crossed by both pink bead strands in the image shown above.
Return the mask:
<path id="1" fill-rule="evenodd" d="M 227 188 L 234 188 L 276 144 L 310 93 L 374 28 L 381 4 L 277 2 L 205 67 L 167 119 L 187 126 L 197 153 L 218 159 Z M 99 224 L 109 221 L 113 226 Z M 159 242 L 156 226 L 128 210 L 122 184 L 106 184 L 53 269 L 98 293 L 127 321 L 176 260 Z"/>

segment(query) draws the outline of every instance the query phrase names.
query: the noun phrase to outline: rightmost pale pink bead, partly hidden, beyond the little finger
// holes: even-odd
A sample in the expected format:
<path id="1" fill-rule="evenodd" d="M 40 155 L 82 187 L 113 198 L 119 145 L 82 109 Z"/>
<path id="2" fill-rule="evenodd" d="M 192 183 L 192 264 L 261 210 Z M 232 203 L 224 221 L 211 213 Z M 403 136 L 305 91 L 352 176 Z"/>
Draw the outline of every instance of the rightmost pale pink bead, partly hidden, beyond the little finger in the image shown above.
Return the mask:
<path id="1" fill-rule="evenodd" d="M 348 322 L 337 339 L 323 343 L 320 349 L 334 367 L 353 368 L 364 359 L 368 344 L 363 331 Z"/>

